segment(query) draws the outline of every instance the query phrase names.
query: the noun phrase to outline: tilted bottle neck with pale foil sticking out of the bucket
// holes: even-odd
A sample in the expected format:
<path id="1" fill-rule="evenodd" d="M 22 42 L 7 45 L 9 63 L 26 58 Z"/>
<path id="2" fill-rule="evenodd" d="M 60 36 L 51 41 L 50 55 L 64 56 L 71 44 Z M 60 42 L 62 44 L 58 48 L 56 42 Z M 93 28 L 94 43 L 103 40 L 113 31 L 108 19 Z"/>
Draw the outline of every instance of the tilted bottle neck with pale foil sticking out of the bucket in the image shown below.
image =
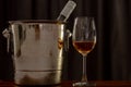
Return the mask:
<path id="1" fill-rule="evenodd" d="M 70 14 L 75 9 L 75 7 L 76 7 L 76 3 L 73 0 L 69 0 L 64 5 L 64 8 L 62 9 L 62 11 L 60 12 L 57 21 L 66 22 L 69 18 Z"/>

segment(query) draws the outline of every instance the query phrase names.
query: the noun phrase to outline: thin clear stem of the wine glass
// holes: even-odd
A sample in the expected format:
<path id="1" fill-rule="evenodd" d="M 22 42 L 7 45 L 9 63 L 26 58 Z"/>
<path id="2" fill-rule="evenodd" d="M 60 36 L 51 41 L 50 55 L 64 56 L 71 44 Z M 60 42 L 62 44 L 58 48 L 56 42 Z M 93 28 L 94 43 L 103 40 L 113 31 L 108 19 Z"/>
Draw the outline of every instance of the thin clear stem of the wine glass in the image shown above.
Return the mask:
<path id="1" fill-rule="evenodd" d="M 87 75 L 86 75 L 86 57 L 83 55 L 83 74 L 82 74 L 82 82 L 87 82 Z"/>

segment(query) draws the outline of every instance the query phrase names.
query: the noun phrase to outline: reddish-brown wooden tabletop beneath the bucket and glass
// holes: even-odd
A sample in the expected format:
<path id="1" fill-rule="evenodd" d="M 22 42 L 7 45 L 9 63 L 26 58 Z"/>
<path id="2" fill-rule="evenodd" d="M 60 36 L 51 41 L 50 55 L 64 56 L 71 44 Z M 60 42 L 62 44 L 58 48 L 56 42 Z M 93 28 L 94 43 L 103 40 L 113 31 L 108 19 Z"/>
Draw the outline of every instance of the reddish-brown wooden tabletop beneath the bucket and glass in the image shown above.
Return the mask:
<path id="1" fill-rule="evenodd" d="M 57 86 L 40 86 L 40 87 L 72 87 L 72 83 L 74 82 L 64 80 Z M 96 83 L 96 87 L 131 87 L 130 80 L 96 80 L 95 83 Z M 20 87 L 20 86 L 16 86 L 13 82 L 0 80 L 0 87 Z M 26 87 L 26 86 L 22 86 L 22 87 Z"/>

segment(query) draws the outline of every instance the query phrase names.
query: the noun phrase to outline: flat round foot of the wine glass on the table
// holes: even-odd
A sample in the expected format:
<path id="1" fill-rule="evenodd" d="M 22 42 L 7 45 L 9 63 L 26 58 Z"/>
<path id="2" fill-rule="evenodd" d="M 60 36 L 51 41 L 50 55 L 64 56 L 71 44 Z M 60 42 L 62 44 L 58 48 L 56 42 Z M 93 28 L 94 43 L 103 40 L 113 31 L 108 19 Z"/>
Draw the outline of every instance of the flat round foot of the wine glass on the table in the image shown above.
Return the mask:
<path id="1" fill-rule="evenodd" d="M 96 84 L 88 82 L 78 82 L 78 83 L 73 83 L 73 87 L 96 87 Z"/>

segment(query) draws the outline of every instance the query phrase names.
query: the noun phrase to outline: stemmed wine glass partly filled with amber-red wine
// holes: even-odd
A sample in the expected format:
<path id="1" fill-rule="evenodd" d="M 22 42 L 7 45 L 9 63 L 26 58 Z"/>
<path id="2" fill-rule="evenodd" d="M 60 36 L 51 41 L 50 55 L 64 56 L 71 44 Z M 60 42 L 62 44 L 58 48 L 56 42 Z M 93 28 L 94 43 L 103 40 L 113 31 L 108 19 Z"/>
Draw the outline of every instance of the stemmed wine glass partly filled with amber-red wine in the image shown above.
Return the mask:
<path id="1" fill-rule="evenodd" d="M 74 87 L 95 86 L 95 83 L 87 82 L 86 57 L 94 49 L 96 44 L 96 28 L 94 17 L 79 16 L 74 20 L 73 47 L 83 55 L 83 73 L 81 82 L 73 83 Z"/>

